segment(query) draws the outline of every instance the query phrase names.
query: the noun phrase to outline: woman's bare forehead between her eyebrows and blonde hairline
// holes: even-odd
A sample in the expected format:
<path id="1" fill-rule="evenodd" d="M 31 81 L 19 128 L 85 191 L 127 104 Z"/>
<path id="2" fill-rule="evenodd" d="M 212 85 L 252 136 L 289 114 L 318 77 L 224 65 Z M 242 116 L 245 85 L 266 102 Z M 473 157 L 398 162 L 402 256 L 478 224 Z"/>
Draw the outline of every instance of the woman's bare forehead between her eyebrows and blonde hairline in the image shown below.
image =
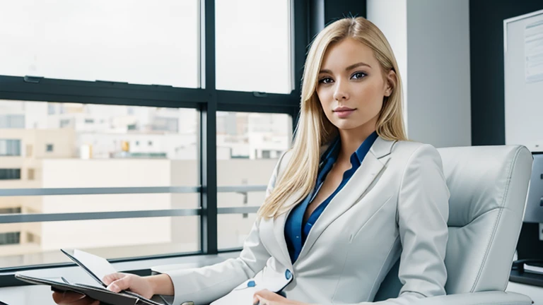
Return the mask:
<path id="1" fill-rule="evenodd" d="M 370 47 L 352 38 L 346 38 L 329 45 L 322 59 L 321 68 L 327 70 L 344 69 L 358 62 L 369 64 L 372 68 L 378 64 Z"/>

